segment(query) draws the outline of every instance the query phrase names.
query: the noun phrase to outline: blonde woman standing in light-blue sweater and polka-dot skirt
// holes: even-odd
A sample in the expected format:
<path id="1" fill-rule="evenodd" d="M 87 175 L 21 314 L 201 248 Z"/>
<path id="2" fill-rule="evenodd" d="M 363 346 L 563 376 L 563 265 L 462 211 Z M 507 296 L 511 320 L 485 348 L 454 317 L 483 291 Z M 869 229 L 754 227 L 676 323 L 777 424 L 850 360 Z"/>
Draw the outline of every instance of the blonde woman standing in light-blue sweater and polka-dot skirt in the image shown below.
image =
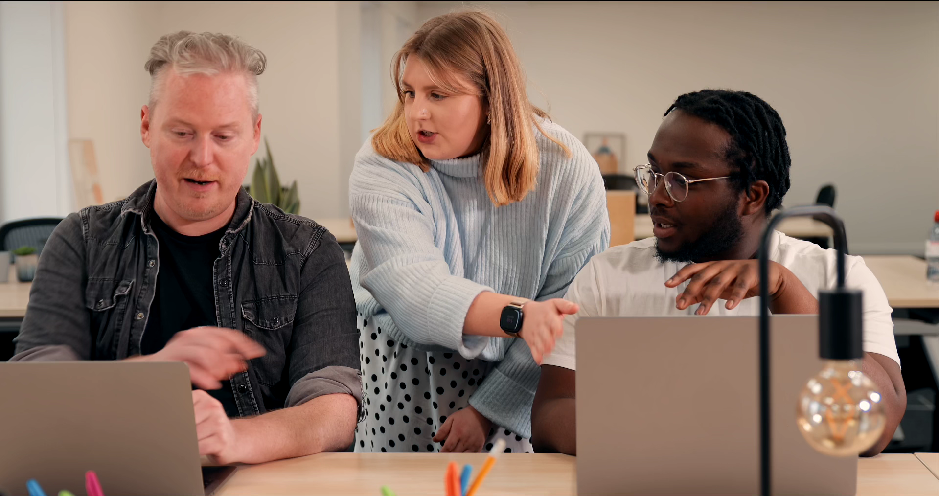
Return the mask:
<path id="1" fill-rule="evenodd" d="M 366 415 L 356 449 L 531 451 L 538 364 L 607 248 L 588 151 L 528 100 L 500 24 L 423 24 L 396 54 L 399 103 L 349 183 Z M 514 331 L 517 331 L 515 333 Z"/>

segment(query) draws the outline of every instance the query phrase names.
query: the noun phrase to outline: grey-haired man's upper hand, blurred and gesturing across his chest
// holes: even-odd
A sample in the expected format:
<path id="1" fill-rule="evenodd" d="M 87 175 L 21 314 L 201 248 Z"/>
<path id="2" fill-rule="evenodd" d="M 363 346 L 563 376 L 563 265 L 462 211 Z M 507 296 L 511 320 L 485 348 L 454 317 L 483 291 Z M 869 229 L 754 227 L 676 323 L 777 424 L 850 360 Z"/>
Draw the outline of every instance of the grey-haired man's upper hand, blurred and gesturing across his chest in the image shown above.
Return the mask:
<path id="1" fill-rule="evenodd" d="M 261 345 L 239 331 L 207 326 L 180 331 L 160 351 L 133 360 L 184 362 L 196 387 L 219 389 L 221 380 L 247 370 L 249 360 L 264 354 Z"/>

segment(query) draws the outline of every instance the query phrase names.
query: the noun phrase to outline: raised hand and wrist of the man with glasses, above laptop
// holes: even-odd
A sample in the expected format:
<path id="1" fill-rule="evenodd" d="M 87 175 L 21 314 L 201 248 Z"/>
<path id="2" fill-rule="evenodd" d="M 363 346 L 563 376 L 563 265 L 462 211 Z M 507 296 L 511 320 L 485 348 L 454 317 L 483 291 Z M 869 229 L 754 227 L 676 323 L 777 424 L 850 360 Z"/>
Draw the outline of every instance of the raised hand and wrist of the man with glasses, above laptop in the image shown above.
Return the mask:
<path id="1" fill-rule="evenodd" d="M 688 265 L 665 282 L 678 287 L 690 280 L 685 291 L 675 298 L 675 307 L 685 310 L 699 303 L 695 315 L 706 315 L 717 300 L 727 300 L 728 310 L 747 298 L 760 296 L 760 265 L 758 260 L 720 260 Z M 770 309 L 777 314 L 818 313 L 818 301 L 795 277 L 792 271 L 769 263 Z"/>

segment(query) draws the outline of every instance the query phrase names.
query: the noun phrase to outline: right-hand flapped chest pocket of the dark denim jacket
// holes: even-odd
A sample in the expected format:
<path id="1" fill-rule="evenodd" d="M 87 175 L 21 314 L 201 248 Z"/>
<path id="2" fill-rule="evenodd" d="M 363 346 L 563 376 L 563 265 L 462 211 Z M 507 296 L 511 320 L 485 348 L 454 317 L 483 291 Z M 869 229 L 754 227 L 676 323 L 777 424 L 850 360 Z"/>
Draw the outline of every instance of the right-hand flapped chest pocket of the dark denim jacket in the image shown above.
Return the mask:
<path id="1" fill-rule="evenodd" d="M 252 360 L 257 380 L 262 384 L 276 386 L 287 375 L 286 351 L 296 314 L 296 296 L 275 296 L 241 303 L 244 333 L 267 350 L 266 355 Z"/>

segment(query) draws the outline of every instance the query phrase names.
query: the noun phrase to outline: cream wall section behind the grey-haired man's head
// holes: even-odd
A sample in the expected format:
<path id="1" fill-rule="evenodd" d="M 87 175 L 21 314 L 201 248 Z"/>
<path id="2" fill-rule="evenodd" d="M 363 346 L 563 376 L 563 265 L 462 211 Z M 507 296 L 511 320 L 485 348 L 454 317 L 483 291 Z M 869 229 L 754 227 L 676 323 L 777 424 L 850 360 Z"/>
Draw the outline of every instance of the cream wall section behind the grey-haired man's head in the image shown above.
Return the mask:
<path id="1" fill-rule="evenodd" d="M 237 35 L 267 55 L 262 132 L 278 173 L 297 179 L 302 215 L 347 215 L 361 145 L 350 145 L 361 129 L 358 2 L 69 2 L 66 24 L 69 132 L 94 140 L 106 199 L 152 178 L 139 134 L 144 62 L 162 34 L 187 29 Z"/>

